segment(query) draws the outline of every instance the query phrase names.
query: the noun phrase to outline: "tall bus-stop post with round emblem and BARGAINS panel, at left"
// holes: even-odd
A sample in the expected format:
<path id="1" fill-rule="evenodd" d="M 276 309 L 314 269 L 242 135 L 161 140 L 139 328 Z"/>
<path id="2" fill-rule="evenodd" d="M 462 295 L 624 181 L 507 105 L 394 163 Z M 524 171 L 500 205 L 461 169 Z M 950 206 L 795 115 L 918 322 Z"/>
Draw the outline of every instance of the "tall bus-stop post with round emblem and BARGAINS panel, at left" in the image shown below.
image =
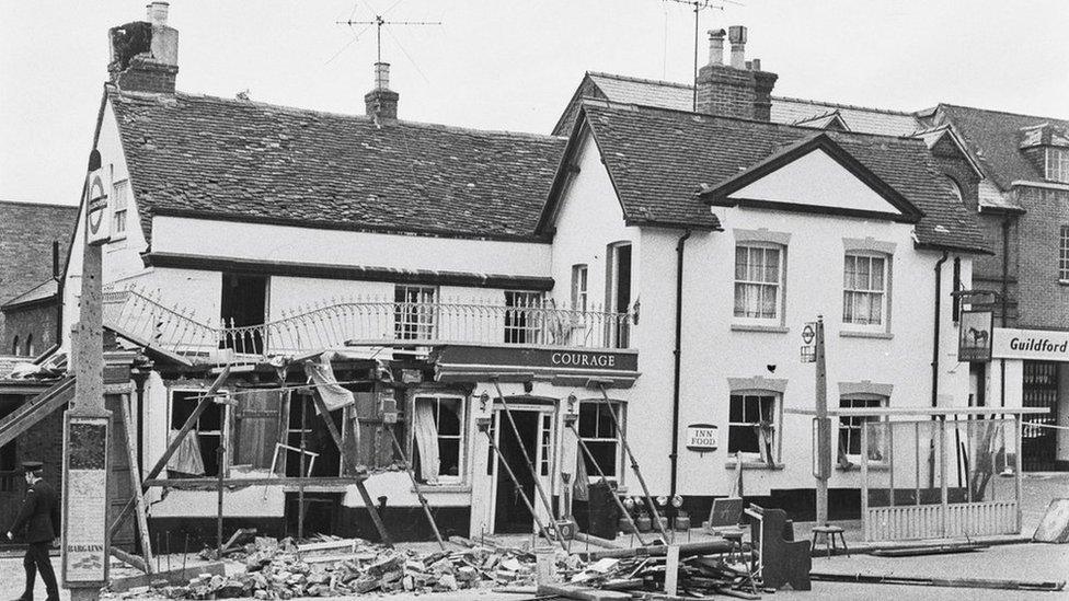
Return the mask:
<path id="1" fill-rule="evenodd" d="M 74 400 L 64 415 L 64 519 L 61 576 L 71 601 L 100 598 L 107 582 L 107 443 L 104 408 L 101 245 L 110 240 L 101 157 L 89 158 L 85 180 L 79 320 L 71 332 Z"/>

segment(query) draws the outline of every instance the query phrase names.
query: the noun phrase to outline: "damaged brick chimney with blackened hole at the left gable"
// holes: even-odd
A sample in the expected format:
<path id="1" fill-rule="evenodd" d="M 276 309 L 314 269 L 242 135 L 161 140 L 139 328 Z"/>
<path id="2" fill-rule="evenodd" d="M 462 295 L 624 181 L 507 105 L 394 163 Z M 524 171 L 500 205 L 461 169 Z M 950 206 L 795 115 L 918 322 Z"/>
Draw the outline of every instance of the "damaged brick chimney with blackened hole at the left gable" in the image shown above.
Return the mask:
<path id="1" fill-rule="evenodd" d="M 146 20 L 108 30 L 112 83 L 134 92 L 174 93 L 179 74 L 179 31 L 166 24 L 166 2 L 146 7 Z"/>

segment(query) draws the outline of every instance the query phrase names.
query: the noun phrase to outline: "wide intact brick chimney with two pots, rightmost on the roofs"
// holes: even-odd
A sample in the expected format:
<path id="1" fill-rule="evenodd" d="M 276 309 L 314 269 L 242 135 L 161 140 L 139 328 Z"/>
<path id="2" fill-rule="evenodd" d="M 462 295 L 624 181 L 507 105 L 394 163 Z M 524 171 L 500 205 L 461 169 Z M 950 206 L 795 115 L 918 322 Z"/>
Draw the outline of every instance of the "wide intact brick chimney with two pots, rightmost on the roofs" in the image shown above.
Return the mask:
<path id="1" fill-rule="evenodd" d="M 726 35 L 731 65 L 724 65 L 724 30 L 709 32 L 709 63 L 698 70 L 698 112 L 767 122 L 779 76 L 762 71 L 760 59 L 746 60 L 746 27 L 732 26 Z"/>

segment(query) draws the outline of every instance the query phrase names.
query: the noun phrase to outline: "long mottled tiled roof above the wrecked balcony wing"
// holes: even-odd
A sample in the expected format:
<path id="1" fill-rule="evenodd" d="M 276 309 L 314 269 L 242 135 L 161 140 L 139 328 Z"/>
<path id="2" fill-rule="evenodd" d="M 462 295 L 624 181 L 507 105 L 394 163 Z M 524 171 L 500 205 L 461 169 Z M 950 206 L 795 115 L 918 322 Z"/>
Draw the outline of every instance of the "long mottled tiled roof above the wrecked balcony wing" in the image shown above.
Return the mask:
<path id="1" fill-rule="evenodd" d="M 153 213 L 528 238 L 565 140 L 212 96 L 108 90 Z"/>

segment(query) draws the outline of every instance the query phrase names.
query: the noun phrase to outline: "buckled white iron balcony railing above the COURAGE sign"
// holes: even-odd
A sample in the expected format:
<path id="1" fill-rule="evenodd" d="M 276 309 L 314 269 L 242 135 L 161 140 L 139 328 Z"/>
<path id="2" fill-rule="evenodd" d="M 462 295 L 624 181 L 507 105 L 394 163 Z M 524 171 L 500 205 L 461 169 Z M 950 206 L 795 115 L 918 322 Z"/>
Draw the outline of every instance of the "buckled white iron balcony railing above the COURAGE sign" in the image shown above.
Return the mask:
<path id="1" fill-rule="evenodd" d="M 104 294 L 104 325 L 140 344 L 192 362 L 251 362 L 344 346 L 476 344 L 562 348 L 628 348 L 627 313 L 493 302 L 332 300 L 283 312 L 281 319 L 238 326 L 168 307 L 139 288 Z"/>

